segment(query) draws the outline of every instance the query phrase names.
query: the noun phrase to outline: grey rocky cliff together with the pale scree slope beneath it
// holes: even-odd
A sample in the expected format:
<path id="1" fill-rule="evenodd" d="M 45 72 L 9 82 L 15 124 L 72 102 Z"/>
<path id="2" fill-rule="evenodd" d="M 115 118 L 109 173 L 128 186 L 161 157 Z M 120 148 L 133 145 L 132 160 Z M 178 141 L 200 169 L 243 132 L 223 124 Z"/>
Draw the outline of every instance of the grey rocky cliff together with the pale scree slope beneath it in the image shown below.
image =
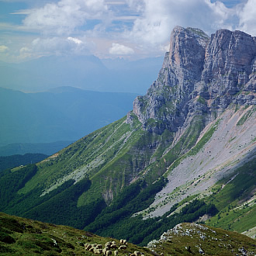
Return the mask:
<path id="1" fill-rule="evenodd" d="M 144 130 L 174 136 L 162 155 L 168 184 L 143 212 L 146 218 L 188 196 L 210 195 L 216 181 L 255 162 L 255 67 L 256 37 L 227 29 L 210 37 L 200 29 L 172 31 L 157 81 L 126 119 L 132 123 L 135 114 Z"/>

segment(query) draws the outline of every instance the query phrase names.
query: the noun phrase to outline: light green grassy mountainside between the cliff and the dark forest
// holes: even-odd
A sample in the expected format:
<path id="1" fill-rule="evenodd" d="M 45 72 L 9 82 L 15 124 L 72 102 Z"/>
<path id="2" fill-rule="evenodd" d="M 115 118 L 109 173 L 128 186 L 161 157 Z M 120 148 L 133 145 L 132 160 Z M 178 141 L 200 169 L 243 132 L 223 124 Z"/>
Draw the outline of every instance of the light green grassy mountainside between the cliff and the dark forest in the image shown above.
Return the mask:
<path id="1" fill-rule="evenodd" d="M 79 180 L 86 175 L 92 180 L 92 188 L 81 195 L 78 206 L 109 192 L 111 196 L 117 195 L 123 186 L 144 176 L 144 168 L 152 159 L 161 157 L 173 140 L 168 131 L 150 134 L 141 130 L 139 122 L 130 126 L 125 119 L 89 134 L 38 164 L 39 171 L 19 193 L 30 192 L 42 184 L 49 192 L 67 179 Z M 154 182 L 164 171 L 148 174 L 147 182 Z"/>

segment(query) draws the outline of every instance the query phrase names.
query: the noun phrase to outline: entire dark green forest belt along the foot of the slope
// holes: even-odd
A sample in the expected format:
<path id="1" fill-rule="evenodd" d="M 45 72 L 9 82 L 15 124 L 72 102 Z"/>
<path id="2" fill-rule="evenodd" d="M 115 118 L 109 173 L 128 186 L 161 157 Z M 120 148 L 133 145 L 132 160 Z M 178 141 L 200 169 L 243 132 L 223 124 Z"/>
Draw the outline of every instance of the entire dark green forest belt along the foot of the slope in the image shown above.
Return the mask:
<path id="1" fill-rule="evenodd" d="M 178 207 L 176 204 L 168 213 L 158 218 L 143 220 L 142 216 L 133 216 L 154 202 L 154 196 L 167 182 L 163 177 L 149 185 L 144 181 L 134 182 L 124 188 L 109 206 L 106 206 L 102 198 L 85 206 L 77 206 L 79 196 L 91 186 L 88 178 L 80 182 L 68 180 L 43 196 L 43 185 L 38 185 L 26 194 L 19 193 L 19 189 L 22 189 L 36 171 L 35 164 L 14 172 L 2 171 L 0 211 L 47 223 L 84 228 L 104 237 L 124 238 L 140 245 L 159 238 L 164 231 L 178 223 L 192 222 L 205 213 L 215 215 L 217 212 L 213 204 L 206 205 L 202 200 L 195 199 L 179 213 L 173 213 Z"/>

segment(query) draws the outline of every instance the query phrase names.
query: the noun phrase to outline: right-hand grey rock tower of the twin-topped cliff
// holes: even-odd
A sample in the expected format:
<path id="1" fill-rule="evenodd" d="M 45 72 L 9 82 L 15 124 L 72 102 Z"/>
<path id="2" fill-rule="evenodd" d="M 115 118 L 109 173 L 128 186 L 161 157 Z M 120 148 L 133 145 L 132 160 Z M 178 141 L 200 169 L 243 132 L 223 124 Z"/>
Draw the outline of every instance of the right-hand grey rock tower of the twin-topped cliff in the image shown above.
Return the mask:
<path id="1" fill-rule="evenodd" d="M 206 47 L 202 82 L 212 99 L 211 106 L 223 112 L 231 102 L 254 104 L 256 39 L 241 31 L 221 29 L 211 36 Z M 249 90 L 248 90 L 249 88 Z M 236 95 L 238 93 L 241 95 Z M 223 99 L 218 99 L 223 97 Z"/>

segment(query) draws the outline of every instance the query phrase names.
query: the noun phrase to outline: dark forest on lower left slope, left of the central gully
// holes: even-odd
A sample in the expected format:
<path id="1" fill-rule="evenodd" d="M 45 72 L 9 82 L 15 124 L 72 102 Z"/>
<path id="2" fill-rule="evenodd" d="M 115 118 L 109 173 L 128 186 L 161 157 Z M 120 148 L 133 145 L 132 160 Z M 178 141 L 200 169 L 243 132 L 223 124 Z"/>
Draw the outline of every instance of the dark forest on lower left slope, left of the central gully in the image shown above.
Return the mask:
<path id="1" fill-rule="evenodd" d="M 74 183 L 68 180 L 63 185 L 42 194 L 42 185 L 26 194 L 19 189 L 36 174 L 37 167 L 30 164 L 18 171 L 2 171 L 0 177 L 0 211 L 24 216 L 48 223 L 57 223 L 82 229 L 106 207 L 103 199 L 97 199 L 88 205 L 77 207 L 78 197 L 88 190 L 91 181 L 88 178 Z"/>

